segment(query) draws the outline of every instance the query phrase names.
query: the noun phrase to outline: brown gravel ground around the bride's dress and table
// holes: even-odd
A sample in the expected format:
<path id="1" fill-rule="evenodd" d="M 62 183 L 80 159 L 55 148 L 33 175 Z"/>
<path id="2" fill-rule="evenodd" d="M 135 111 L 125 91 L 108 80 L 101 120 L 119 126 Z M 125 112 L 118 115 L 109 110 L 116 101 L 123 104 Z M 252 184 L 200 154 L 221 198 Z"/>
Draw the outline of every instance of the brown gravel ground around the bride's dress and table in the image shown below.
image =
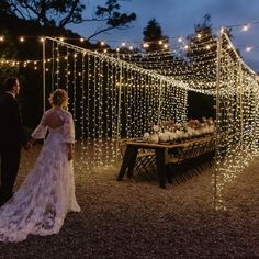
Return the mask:
<path id="1" fill-rule="evenodd" d="M 15 188 L 40 148 L 23 151 Z M 76 166 L 82 212 L 68 214 L 58 235 L 0 244 L 0 258 L 259 258 L 258 159 L 224 190 L 225 211 L 212 209 L 212 169 L 164 190 L 153 173 L 117 182 L 119 166 Z"/>

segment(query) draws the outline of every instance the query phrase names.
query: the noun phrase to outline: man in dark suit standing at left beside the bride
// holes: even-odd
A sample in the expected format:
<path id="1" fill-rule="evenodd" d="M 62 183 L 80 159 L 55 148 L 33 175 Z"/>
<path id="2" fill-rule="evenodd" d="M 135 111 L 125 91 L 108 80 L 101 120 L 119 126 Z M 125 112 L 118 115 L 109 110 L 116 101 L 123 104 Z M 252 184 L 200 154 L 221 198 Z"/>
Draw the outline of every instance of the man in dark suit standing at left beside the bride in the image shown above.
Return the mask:
<path id="1" fill-rule="evenodd" d="M 15 99 L 19 92 L 18 78 L 8 78 L 4 81 L 4 93 L 0 97 L 0 206 L 13 195 L 21 146 L 24 142 L 20 108 Z"/>

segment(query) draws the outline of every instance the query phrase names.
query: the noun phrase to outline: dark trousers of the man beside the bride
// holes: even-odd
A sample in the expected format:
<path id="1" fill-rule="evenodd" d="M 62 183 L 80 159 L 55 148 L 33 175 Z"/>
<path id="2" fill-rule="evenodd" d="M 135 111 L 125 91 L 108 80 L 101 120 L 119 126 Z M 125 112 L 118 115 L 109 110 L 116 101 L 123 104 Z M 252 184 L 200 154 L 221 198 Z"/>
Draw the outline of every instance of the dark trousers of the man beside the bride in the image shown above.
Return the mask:
<path id="1" fill-rule="evenodd" d="M 19 170 L 21 145 L 0 145 L 1 187 L 0 205 L 13 195 L 13 185 Z"/>

